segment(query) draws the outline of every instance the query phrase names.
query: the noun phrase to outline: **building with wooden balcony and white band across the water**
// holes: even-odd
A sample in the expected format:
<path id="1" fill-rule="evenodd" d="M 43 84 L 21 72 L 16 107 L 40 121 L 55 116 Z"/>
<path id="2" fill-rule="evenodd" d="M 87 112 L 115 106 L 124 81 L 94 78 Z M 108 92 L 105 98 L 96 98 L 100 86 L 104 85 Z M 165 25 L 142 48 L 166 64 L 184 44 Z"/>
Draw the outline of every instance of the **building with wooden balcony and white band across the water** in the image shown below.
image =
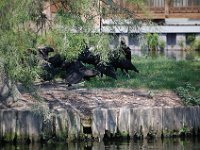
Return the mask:
<path id="1" fill-rule="evenodd" d="M 107 11 L 106 16 L 96 17 L 96 28 L 98 32 L 105 32 L 115 36 L 115 41 L 123 37 L 126 43 L 132 49 L 141 49 L 143 39 L 139 38 L 146 33 L 157 33 L 159 40 L 164 41 L 165 49 L 179 50 L 185 49 L 190 45 L 188 40 L 190 37 L 200 38 L 200 0 L 145 0 L 143 8 L 148 12 L 148 15 L 142 11 L 142 8 L 137 5 L 132 5 L 126 0 L 99 0 L 100 11 Z M 118 8 L 126 8 L 133 12 L 133 16 L 138 20 L 144 20 L 147 17 L 152 20 L 154 25 L 143 24 L 139 28 L 131 28 L 131 24 L 116 24 L 112 18 L 113 10 L 108 8 L 119 6 Z M 50 7 L 46 7 L 45 13 L 49 18 L 59 7 L 59 3 L 51 3 Z M 122 14 L 121 10 L 118 14 Z M 115 12 L 116 13 L 116 12 Z M 109 17 L 110 16 L 110 17 Z M 113 46 L 116 44 L 111 43 Z"/>

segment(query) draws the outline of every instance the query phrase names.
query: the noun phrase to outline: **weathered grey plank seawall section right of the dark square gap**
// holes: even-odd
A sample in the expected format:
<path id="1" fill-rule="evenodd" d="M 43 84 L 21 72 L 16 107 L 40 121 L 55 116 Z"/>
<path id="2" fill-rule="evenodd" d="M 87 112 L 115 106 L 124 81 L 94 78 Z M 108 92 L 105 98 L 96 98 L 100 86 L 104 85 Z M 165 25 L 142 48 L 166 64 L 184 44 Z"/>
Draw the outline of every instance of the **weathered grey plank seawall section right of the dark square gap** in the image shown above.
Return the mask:
<path id="1" fill-rule="evenodd" d="M 107 111 L 112 115 L 108 117 Z M 117 112 L 117 113 L 116 113 Z M 197 107 L 139 107 L 119 109 L 94 109 L 92 131 L 99 138 L 107 128 L 106 120 L 115 120 L 115 134 L 122 137 L 161 137 L 184 134 L 197 135 L 200 130 L 200 108 Z M 109 125 L 108 125 L 109 126 Z M 184 130 L 183 130 L 184 129 Z"/>

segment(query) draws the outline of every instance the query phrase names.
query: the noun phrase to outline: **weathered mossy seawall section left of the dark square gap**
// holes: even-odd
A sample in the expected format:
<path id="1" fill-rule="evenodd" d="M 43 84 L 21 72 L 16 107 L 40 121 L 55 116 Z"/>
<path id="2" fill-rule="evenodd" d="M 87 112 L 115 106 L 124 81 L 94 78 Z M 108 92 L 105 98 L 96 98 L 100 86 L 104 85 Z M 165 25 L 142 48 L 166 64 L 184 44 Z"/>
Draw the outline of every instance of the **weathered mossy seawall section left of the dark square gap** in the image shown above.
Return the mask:
<path id="1" fill-rule="evenodd" d="M 80 135 L 80 117 L 71 109 L 53 110 L 49 121 L 31 110 L 0 110 L 0 141 L 40 142 L 75 140 Z"/>

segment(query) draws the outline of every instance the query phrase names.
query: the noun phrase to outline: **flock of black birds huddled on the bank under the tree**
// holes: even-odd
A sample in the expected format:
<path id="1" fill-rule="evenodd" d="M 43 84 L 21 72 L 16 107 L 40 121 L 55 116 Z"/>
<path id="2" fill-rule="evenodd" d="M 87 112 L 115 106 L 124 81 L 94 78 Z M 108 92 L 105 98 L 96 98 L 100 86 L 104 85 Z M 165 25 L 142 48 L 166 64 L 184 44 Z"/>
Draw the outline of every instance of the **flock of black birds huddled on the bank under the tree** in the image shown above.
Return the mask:
<path id="1" fill-rule="evenodd" d="M 65 60 L 60 54 L 49 57 L 49 53 L 54 52 L 51 47 L 38 48 L 38 51 L 42 59 L 45 60 L 45 63 L 42 64 L 41 73 L 41 78 L 44 81 L 52 81 L 56 76 L 59 76 L 65 80 L 68 86 L 71 86 L 97 75 L 117 79 L 116 71 L 118 68 L 127 76 L 129 76 L 129 70 L 139 73 L 131 62 L 131 50 L 123 41 L 121 41 L 118 50 L 113 50 L 109 54 L 107 63 L 102 63 L 100 55 L 94 54 L 87 46 L 78 56 L 78 59 L 72 62 Z M 93 67 L 88 67 L 86 64 Z"/>

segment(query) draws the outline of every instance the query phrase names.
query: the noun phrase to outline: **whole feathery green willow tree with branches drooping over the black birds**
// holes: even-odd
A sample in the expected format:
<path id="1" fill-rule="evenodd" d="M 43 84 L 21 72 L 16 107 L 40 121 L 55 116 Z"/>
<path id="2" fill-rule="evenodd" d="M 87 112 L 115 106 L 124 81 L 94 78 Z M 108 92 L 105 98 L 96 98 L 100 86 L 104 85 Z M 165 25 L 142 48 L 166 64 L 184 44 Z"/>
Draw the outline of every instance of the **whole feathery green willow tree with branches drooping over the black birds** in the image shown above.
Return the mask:
<path id="1" fill-rule="evenodd" d="M 143 6 L 141 0 L 126 1 Z M 52 22 L 43 13 L 45 3 L 57 7 Z M 53 46 L 63 57 L 73 60 L 87 44 L 106 61 L 110 37 L 95 28 L 95 24 L 99 21 L 101 26 L 102 18 L 110 13 L 115 26 L 123 24 L 123 20 L 127 23 L 127 19 L 131 27 L 139 26 L 134 11 L 112 0 L 1 0 L 1 100 L 8 97 L 17 100 L 18 83 L 31 89 L 39 72 L 33 52 L 38 45 Z M 43 32 L 46 29 L 48 32 Z"/>

